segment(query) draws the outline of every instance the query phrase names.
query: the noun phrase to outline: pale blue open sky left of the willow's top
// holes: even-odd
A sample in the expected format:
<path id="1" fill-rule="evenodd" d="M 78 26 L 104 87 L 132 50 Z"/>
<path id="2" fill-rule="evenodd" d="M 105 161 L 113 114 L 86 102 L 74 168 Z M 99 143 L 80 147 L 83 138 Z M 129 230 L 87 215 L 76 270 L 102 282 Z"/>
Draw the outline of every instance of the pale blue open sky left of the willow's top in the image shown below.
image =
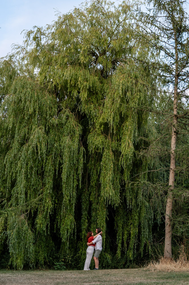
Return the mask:
<path id="1" fill-rule="evenodd" d="M 63 14 L 79 7 L 82 0 L 0 0 L 0 58 L 11 52 L 11 45 L 22 44 L 22 30 L 45 26 L 56 20 L 55 10 Z"/>

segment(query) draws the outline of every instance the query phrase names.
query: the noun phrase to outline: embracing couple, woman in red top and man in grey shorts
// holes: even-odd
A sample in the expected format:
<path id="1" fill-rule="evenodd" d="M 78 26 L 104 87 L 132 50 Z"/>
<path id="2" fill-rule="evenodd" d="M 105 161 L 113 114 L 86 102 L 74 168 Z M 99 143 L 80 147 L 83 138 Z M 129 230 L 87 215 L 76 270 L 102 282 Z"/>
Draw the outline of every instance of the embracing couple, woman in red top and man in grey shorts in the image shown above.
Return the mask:
<path id="1" fill-rule="evenodd" d="M 94 254 L 94 262 L 95 262 L 95 268 L 94 270 L 98 269 L 98 264 L 99 264 L 99 260 L 98 257 L 101 253 L 102 250 L 102 231 L 100 228 L 96 229 L 96 235 L 94 236 L 93 232 L 90 231 L 87 233 L 87 256 L 86 256 L 86 260 L 85 260 L 85 266 L 84 266 L 84 270 L 90 270 L 89 266 L 91 264 L 91 259 L 93 256 L 93 253 L 95 251 Z"/>

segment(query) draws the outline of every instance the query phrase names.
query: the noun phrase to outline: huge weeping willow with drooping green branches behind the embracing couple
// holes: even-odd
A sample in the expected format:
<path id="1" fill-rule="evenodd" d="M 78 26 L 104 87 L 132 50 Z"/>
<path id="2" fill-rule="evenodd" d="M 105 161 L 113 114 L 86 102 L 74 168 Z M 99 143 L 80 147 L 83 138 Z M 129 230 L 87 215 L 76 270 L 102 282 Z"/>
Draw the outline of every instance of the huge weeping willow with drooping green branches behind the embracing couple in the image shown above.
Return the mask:
<path id="1" fill-rule="evenodd" d="M 155 55 L 132 19 L 130 3 L 92 1 L 27 31 L 1 60 L 0 249 L 14 268 L 84 260 L 96 227 L 107 260 L 150 252 L 162 205 L 140 152 L 156 96 L 142 59 Z"/>

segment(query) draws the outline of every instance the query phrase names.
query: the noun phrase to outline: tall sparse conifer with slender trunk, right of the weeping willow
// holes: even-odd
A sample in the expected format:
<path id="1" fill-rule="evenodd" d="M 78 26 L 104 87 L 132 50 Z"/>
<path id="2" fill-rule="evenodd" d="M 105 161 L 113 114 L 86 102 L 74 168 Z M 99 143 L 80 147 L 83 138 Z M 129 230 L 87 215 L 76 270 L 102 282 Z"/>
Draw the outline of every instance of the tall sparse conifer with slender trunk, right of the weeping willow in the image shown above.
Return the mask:
<path id="1" fill-rule="evenodd" d="M 165 120 L 169 121 L 172 129 L 170 141 L 169 190 L 165 210 L 165 258 L 172 257 L 171 218 L 175 173 L 178 172 L 178 167 L 176 168 L 176 141 L 183 124 L 187 125 L 186 119 L 188 119 L 188 107 L 186 102 L 188 95 L 186 90 L 188 89 L 189 67 L 189 17 L 184 11 L 183 5 L 185 2 L 186 1 L 180 0 L 147 1 L 147 3 L 153 5 L 153 7 L 148 9 L 148 13 L 141 13 L 141 29 L 143 29 L 144 32 L 143 37 L 147 38 L 149 45 L 154 48 L 155 52 L 159 52 L 159 61 L 156 61 L 154 64 L 157 64 L 159 70 L 161 90 L 163 91 L 163 86 L 165 88 L 163 96 L 164 101 L 167 100 L 167 102 L 164 104 L 165 109 L 162 110 L 164 113 L 167 113 L 168 116 Z M 144 22 L 146 25 L 144 25 Z M 153 40 L 151 40 L 149 34 Z M 169 96 L 167 96 L 165 92 L 169 92 Z M 170 107 L 170 105 L 171 109 L 168 109 L 167 107 Z M 182 158 L 178 163 L 181 163 L 181 161 Z"/>

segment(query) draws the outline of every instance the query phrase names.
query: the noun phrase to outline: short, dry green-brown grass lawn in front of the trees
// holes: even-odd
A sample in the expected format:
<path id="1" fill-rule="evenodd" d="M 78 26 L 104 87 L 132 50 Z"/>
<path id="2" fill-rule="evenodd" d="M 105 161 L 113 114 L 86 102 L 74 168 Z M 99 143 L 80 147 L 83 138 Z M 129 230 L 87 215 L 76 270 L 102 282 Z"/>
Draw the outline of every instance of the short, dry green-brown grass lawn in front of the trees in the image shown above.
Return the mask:
<path id="1" fill-rule="evenodd" d="M 112 270 L 0 270 L 1 285 L 189 285 L 189 272 L 148 269 Z"/>

